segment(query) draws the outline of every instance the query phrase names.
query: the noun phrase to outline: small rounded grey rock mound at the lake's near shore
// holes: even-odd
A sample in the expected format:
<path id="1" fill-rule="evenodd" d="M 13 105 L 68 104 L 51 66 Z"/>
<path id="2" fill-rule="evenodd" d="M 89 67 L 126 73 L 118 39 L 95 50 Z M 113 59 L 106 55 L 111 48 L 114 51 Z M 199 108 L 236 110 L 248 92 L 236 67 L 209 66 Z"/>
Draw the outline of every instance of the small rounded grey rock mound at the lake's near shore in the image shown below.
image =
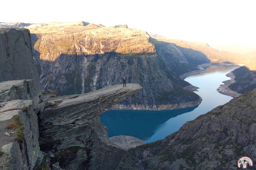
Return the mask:
<path id="1" fill-rule="evenodd" d="M 116 146 L 121 149 L 128 150 L 131 148 L 135 148 L 136 146 L 144 145 L 145 142 L 142 140 L 132 137 L 132 136 L 113 136 L 109 138 L 111 142 L 113 142 Z"/>

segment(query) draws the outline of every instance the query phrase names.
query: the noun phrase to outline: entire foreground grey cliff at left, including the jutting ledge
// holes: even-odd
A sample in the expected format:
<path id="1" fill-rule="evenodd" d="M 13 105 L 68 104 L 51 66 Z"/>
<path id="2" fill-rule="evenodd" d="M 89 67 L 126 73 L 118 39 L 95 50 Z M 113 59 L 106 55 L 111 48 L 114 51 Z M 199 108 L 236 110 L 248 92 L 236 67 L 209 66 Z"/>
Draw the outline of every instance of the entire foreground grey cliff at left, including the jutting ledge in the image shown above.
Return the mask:
<path id="1" fill-rule="evenodd" d="M 124 150 L 109 140 L 99 115 L 142 87 L 116 85 L 61 97 L 41 92 L 29 31 L 0 33 L 0 80 L 11 80 L 0 82 L 0 169 L 115 168 Z M 13 80 L 23 77 L 33 80 Z"/>

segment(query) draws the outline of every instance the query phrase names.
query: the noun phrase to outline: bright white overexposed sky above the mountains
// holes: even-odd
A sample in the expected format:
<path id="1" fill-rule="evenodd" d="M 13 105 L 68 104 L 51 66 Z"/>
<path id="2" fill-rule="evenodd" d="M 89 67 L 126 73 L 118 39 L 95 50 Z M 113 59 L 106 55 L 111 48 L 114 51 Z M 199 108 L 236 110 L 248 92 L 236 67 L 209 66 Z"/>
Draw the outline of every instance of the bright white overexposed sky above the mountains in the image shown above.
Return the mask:
<path id="1" fill-rule="evenodd" d="M 169 38 L 256 47 L 255 6 L 254 0 L 14 0 L 1 2 L 0 22 L 127 24 Z"/>

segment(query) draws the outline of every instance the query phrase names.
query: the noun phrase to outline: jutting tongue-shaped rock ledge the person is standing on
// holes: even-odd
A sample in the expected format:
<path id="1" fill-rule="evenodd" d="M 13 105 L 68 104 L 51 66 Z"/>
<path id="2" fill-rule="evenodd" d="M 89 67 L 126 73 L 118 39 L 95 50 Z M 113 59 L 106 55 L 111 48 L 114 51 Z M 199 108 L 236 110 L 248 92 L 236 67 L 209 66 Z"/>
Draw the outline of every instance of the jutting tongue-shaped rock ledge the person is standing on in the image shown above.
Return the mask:
<path id="1" fill-rule="evenodd" d="M 59 162 L 66 170 L 114 169 L 124 150 L 109 140 L 99 116 L 141 88 L 137 84 L 115 85 L 82 95 L 52 98 L 56 105 L 39 113 L 40 148 L 52 153 L 48 164 Z"/>

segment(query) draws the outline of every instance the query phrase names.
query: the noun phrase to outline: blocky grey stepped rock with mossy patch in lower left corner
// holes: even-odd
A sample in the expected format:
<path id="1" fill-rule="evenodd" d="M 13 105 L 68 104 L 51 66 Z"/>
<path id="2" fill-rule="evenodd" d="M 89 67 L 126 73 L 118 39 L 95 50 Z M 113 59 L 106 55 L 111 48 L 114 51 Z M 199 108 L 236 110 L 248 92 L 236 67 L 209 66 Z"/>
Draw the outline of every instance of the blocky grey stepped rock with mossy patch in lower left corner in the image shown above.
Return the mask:
<path id="1" fill-rule="evenodd" d="M 36 94 L 33 80 L 0 83 L 0 169 L 33 169 L 41 163 Z"/>

